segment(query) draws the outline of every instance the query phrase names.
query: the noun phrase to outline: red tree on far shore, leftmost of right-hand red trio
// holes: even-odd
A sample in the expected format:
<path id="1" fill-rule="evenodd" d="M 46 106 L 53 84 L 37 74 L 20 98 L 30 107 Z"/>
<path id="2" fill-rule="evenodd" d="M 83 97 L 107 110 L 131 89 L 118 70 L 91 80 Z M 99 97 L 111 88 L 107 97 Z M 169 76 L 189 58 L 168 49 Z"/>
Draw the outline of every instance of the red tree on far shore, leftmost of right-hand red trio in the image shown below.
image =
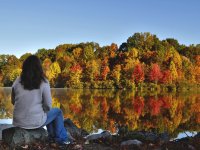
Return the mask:
<path id="1" fill-rule="evenodd" d="M 144 81 L 144 70 L 141 64 L 135 65 L 135 68 L 132 74 L 132 79 L 135 80 L 136 83 Z"/>

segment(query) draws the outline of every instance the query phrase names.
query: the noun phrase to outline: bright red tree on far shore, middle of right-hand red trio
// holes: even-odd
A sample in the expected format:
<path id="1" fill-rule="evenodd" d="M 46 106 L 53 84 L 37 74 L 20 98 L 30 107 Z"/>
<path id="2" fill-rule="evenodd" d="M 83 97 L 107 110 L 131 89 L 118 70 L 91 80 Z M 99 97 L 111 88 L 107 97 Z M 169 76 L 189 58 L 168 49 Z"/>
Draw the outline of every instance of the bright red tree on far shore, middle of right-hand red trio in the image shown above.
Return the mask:
<path id="1" fill-rule="evenodd" d="M 153 64 L 149 73 L 150 81 L 159 81 L 162 78 L 162 73 L 160 71 L 160 66 L 158 64 Z"/>

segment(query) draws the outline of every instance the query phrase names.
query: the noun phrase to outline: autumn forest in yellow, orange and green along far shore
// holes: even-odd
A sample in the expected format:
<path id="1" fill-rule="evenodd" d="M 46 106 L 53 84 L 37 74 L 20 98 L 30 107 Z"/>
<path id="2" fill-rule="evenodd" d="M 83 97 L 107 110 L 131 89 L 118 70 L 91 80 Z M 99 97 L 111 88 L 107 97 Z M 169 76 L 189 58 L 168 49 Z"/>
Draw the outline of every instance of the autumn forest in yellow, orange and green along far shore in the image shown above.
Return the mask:
<path id="1" fill-rule="evenodd" d="M 0 86 L 12 86 L 21 73 L 20 58 L 0 55 Z M 39 49 L 37 55 L 51 87 L 90 89 L 180 90 L 199 86 L 200 44 L 160 40 L 149 32 L 135 33 L 121 45 L 95 42 Z"/>

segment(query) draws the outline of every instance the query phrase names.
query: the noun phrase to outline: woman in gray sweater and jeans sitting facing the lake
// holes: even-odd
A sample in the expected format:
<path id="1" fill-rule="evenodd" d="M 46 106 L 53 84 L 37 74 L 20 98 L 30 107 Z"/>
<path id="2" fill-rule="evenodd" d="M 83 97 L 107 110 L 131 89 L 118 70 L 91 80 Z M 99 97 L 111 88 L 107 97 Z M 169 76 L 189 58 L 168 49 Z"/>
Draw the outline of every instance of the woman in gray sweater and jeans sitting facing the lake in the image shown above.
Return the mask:
<path id="1" fill-rule="evenodd" d="M 70 143 L 62 111 L 51 108 L 49 82 L 37 56 L 31 55 L 24 61 L 21 76 L 13 83 L 11 99 L 14 126 L 35 129 L 46 125 L 50 140 L 59 144 Z"/>

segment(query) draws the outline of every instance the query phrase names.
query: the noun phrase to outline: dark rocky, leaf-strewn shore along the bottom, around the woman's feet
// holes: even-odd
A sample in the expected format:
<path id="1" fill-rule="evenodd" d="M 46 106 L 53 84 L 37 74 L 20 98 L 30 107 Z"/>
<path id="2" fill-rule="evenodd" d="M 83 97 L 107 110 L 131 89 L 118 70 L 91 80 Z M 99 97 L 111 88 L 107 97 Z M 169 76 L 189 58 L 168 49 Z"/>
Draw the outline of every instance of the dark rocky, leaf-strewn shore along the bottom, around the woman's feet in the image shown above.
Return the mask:
<path id="1" fill-rule="evenodd" d="M 125 131 L 122 127 L 115 135 L 109 131 L 89 134 L 87 131 L 78 128 L 70 119 L 66 119 L 64 124 L 69 138 L 74 141 L 65 148 L 61 148 L 55 143 L 49 143 L 47 132 L 43 128 L 24 130 L 10 125 L 0 125 L 0 134 L 2 131 L 0 150 L 198 150 L 200 147 L 200 133 L 194 137 L 171 141 L 167 133 Z"/>

